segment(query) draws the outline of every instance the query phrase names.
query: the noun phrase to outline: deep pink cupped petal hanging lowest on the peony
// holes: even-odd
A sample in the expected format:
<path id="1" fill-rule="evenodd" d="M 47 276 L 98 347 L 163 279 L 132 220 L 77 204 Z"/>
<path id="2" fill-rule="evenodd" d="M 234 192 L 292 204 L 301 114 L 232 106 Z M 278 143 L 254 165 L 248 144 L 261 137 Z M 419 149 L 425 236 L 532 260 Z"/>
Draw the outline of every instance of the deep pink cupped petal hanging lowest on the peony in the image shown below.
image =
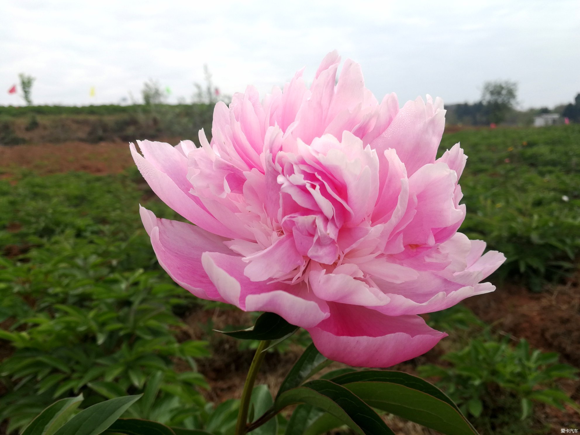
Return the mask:
<path id="1" fill-rule="evenodd" d="M 339 303 L 329 307 L 326 320 L 306 329 L 325 357 L 354 367 L 390 367 L 425 353 L 447 336 L 419 316 L 390 317 Z"/>

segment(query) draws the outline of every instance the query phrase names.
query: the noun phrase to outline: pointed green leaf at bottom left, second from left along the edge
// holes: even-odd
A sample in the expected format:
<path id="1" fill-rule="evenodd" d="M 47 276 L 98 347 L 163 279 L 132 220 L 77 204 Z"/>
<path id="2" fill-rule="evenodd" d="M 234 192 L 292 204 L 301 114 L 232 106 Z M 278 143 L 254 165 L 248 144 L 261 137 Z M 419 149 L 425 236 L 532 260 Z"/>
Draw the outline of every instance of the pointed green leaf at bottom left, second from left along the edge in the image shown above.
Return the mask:
<path id="1" fill-rule="evenodd" d="M 107 430 L 141 396 L 143 394 L 117 397 L 92 405 L 75 415 L 55 435 L 98 435 Z"/>

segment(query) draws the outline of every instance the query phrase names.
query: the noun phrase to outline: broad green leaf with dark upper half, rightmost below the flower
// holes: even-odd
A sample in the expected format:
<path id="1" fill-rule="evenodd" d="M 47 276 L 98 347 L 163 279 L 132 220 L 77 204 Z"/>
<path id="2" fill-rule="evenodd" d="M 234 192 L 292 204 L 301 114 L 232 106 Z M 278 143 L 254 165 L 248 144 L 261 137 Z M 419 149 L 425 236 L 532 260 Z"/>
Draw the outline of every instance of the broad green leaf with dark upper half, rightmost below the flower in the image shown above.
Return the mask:
<path id="1" fill-rule="evenodd" d="M 332 382 L 347 387 L 373 408 L 445 435 L 477 434 L 443 391 L 417 376 L 396 371 L 364 370 L 338 376 Z"/>

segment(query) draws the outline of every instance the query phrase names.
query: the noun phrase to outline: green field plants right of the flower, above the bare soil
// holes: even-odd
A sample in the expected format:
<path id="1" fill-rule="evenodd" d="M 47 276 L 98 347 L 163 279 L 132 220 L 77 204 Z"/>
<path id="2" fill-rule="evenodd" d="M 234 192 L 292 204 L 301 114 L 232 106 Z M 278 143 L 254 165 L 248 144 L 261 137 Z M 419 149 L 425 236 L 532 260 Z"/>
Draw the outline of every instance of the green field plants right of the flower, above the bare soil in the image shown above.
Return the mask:
<path id="1" fill-rule="evenodd" d="M 467 218 L 461 231 L 505 253 L 502 277 L 533 291 L 574 269 L 580 254 L 580 126 L 466 130 L 461 142 Z"/>

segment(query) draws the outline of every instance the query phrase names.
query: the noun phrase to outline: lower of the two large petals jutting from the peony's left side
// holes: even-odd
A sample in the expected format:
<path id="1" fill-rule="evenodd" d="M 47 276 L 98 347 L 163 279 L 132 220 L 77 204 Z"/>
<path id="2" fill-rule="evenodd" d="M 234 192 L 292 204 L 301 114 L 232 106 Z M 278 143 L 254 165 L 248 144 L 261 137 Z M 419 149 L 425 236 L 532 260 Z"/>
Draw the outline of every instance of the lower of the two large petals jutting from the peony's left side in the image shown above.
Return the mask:
<path id="1" fill-rule="evenodd" d="M 223 244 L 227 239 L 188 223 L 157 219 L 143 207 L 140 213 L 157 260 L 173 281 L 198 298 L 223 301 L 203 271 L 201 255 L 208 250 L 231 252 Z"/>

